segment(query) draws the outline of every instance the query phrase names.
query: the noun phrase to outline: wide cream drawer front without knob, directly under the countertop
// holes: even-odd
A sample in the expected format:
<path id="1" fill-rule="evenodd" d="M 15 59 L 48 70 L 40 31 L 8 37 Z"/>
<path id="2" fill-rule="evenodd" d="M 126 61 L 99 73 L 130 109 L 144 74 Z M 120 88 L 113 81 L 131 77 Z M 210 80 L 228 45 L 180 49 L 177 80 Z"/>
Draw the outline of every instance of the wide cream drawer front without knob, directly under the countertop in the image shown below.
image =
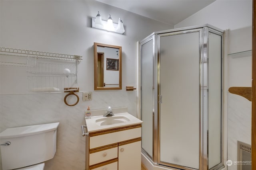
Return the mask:
<path id="1" fill-rule="evenodd" d="M 100 133 L 99 133 L 100 134 Z M 90 149 L 141 137 L 141 127 L 90 137 Z"/>

